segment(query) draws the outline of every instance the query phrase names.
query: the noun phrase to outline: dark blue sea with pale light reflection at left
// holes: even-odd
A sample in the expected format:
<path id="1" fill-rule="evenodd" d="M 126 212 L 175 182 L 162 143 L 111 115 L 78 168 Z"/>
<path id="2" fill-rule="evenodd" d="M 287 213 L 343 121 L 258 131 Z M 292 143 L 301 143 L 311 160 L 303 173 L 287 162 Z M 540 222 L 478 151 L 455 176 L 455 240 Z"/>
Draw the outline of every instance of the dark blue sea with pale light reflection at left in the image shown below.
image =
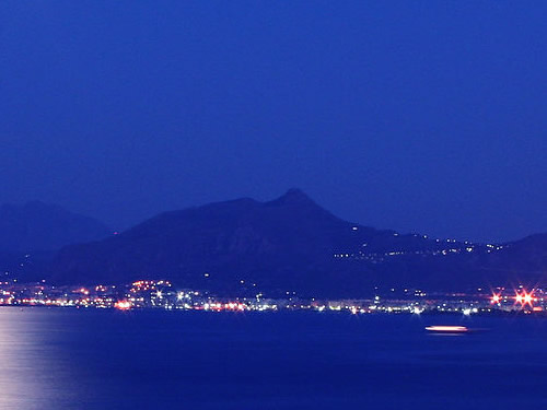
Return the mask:
<path id="1" fill-rule="evenodd" d="M 546 409 L 546 342 L 527 317 L 5 307 L 0 409 Z"/>

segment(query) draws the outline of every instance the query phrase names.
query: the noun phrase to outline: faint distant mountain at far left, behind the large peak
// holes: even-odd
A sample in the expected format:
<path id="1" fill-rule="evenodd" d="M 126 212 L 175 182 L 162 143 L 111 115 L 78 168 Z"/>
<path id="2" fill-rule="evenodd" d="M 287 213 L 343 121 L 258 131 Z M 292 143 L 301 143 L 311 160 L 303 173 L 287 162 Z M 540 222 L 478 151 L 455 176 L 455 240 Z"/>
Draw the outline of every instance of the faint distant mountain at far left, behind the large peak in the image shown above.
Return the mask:
<path id="1" fill-rule="evenodd" d="M 101 222 L 39 201 L 0 207 L 0 253 L 56 251 L 110 234 Z"/>

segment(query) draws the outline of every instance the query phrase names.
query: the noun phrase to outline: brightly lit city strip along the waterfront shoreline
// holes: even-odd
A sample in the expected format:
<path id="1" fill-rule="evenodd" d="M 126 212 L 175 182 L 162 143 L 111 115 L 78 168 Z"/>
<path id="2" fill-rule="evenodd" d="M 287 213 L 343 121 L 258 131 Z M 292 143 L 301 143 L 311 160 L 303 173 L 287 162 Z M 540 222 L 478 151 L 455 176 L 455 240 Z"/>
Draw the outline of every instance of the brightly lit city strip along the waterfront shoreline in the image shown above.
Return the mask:
<path id="1" fill-rule="evenodd" d="M 0 305 L 58 306 L 74 308 L 115 308 L 119 311 L 154 308 L 166 311 L 264 312 L 302 311 L 340 312 L 360 314 L 431 314 L 452 313 L 464 316 L 497 313 L 545 315 L 547 289 L 527 291 L 523 285 L 513 289 L 513 295 L 504 288 L 492 293 L 477 288 L 473 292 L 447 292 L 434 296 L 423 290 L 405 290 L 405 295 L 393 297 L 377 292 L 363 298 L 324 298 L 298 296 L 286 291 L 268 297 L 255 290 L 253 294 L 218 296 L 205 290 L 176 289 L 166 280 L 140 280 L 127 285 L 97 284 L 55 286 L 44 283 L 0 283 Z M 478 293 L 476 293 L 478 292 Z M 427 297 L 427 298 L 424 298 Z"/>

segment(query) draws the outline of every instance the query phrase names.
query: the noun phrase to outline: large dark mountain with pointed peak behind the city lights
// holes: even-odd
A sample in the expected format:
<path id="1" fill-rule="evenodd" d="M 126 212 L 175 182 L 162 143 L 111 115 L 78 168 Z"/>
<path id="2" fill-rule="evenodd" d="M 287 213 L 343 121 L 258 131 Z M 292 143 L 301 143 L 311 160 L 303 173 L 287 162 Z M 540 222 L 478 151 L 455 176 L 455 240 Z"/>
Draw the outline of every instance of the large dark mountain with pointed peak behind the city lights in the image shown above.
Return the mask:
<path id="1" fill-rule="evenodd" d="M 401 235 L 344 221 L 291 189 L 268 202 L 244 198 L 165 212 L 119 235 L 68 246 L 55 257 L 51 280 L 170 279 L 220 294 L 362 296 L 374 286 L 458 290 L 507 282 L 515 278 L 511 269 L 540 280 L 547 267 L 542 241 L 480 245 Z M 531 249 L 542 256 L 531 259 Z"/>

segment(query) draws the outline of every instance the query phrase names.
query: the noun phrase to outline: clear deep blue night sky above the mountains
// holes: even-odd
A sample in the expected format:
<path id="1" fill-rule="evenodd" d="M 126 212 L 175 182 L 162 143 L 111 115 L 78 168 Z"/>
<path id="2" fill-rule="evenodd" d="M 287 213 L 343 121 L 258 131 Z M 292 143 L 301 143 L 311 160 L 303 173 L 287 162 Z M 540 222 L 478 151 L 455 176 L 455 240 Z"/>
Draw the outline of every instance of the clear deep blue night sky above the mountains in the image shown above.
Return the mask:
<path id="1" fill-rule="evenodd" d="M 356 222 L 547 232 L 545 1 L 0 3 L 0 202 L 126 227 L 300 187 Z"/>

